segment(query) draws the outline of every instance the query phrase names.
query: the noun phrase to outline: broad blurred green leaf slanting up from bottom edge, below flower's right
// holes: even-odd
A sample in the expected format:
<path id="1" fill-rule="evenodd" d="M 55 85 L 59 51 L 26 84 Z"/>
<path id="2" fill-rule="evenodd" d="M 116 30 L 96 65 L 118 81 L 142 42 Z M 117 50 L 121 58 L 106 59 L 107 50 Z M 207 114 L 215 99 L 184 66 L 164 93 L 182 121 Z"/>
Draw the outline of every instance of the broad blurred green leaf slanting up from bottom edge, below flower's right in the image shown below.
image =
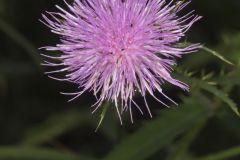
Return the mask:
<path id="1" fill-rule="evenodd" d="M 155 120 L 148 121 L 141 129 L 126 137 L 105 160 L 144 160 L 207 115 L 206 108 L 198 100 L 188 100 L 183 106 L 167 110 Z"/>

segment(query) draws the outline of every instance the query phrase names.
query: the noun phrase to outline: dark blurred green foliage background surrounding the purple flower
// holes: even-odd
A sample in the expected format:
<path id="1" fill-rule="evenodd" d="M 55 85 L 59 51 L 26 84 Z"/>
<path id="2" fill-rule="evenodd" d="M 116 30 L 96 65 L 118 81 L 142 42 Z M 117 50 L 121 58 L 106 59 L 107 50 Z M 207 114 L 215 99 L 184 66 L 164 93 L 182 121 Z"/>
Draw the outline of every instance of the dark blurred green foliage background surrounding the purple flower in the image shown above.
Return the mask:
<path id="1" fill-rule="evenodd" d="M 111 104 L 92 115 L 91 93 L 68 103 L 59 92 L 76 86 L 44 74 L 38 48 L 58 37 L 39 19 L 55 4 L 63 1 L 0 0 L 0 160 L 240 160 L 239 0 L 192 1 L 185 11 L 204 18 L 185 40 L 208 48 L 178 60 L 174 72 L 191 91 L 164 86 L 179 106 L 148 97 L 154 118 L 133 111 L 134 124 L 126 113 L 123 126 Z"/>

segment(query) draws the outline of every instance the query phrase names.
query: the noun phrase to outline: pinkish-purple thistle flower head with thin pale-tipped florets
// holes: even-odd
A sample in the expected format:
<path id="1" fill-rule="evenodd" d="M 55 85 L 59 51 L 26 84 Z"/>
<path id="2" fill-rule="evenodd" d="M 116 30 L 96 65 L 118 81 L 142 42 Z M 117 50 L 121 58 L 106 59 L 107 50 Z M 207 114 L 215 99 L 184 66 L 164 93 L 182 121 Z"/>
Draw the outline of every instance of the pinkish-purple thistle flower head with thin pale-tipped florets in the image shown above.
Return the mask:
<path id="1" fill-rule="evenodd" d="M 152 117 L 146 95 L 167 106 L 155 96 L 164 94 L 162 84 L 169 82 L 183 90 L 188 86 L 171 76 L 175 58 L 196 51 L 200 45 L 179 47 L 179 40 L 201 17 L 193 12 L 179 17 L 177 14 L 189 2 L 165 0 L 75 0 L 68 11 L 56 6 L 59 12 L 46 12 L 43 23 L 60 36 L 61 43 L 44 47 L 47 51 L 60 51 L 58 57 L 44 61 L 45 66 L 62 67 L 47 74 L 64 72 L 65 77 L 54 78 L 78 86 L 74 100 L 86 91 L 96 96 L 94 112 L 104 101 L 115 104 L 121 121 L 123 111 L 141 107 L 134 96 L 143 97 Z M 56 62 L 58 60 L 59 63 Z M 70 101 L 71 101 L 70 100 Z M 176 103 L 175 103 L 176 104 Z M 122 121 L 121 121 L 122 123 Z"/>

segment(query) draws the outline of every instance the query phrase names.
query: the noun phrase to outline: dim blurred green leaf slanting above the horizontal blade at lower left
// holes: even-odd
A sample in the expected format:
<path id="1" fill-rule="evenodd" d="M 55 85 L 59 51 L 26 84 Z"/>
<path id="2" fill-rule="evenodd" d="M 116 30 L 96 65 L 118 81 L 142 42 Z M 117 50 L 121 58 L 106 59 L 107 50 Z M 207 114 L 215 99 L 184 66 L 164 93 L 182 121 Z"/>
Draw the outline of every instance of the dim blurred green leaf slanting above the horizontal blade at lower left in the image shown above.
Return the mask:
<path id="1" fill-rule="evenodd" d="M 21 144 L 29 146 L 49 142 L 71 129 L 85 124 L 88 117 L 87 113 L 74 109 L 53 115 L 43 123 L 27 130 Z"/>

